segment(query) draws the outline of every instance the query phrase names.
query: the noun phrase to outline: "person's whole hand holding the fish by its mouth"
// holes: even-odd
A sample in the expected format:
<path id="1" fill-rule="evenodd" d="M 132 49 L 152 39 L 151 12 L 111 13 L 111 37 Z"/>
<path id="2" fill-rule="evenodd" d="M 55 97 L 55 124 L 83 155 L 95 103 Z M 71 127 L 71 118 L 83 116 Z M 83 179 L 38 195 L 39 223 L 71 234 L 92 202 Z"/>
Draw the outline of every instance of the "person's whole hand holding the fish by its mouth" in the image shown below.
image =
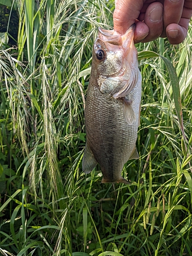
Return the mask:
<path id="1" fill-rule="evenodd" d="M 116 0 L 114 31 L 124 34 L 136 23 L 135 43 L 167 37 L 177 45 L 187 36 L 191 16 L 192 0 Z"/>

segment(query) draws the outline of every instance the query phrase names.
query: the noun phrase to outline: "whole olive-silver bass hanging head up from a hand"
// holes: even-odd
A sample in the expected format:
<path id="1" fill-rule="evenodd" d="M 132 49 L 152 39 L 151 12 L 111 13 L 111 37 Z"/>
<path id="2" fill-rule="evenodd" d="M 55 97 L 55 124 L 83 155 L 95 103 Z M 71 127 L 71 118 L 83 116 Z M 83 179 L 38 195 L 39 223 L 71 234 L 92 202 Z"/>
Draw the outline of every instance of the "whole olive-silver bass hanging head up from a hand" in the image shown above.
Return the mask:
<path id="1" fill-rule="evenodd" d="M 85 110 L 87 141 L 82 170 L 89 174 L 99 163 L 101 183 L 125 183 L 124 164 L 138 159 L 141 73 L 134 45 L 135 25 L 123 35 L 98 29 Z"/>

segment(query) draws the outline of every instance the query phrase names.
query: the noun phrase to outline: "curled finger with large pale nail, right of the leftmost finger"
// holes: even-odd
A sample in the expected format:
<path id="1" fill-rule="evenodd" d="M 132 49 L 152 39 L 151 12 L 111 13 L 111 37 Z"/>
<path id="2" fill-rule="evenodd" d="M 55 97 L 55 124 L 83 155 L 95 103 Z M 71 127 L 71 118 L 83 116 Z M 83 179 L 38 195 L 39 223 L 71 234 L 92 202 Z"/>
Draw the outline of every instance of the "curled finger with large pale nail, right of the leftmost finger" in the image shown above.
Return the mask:
<path id="1" fill-rule="evenodd" d="M 142 42 L 155 40 L 161 35 L 163 31 L 163 5 L 161 3 L 155 2 L 148 6 L 144 23 L 149 28 L 149 33 Z"/>

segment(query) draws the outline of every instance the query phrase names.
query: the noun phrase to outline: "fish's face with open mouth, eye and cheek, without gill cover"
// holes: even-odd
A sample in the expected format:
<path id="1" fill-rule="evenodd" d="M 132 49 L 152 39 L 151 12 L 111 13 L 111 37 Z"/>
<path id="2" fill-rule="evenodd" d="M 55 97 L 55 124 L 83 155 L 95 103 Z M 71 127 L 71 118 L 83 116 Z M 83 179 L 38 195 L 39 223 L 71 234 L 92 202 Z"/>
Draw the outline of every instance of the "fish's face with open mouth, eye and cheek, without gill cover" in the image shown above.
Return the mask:
<path id="1" fill-rule="evenodd" d="M 127 57 L 130 57 L 130 51 L 135 48 L 134 30 L 135 26 L 131 26 L 121 36 L 115 35 L 114 30 L 99 28 L 93 47 L 93 62 L 97 66 L 97 75 L 112 76 L 125 71 Z"/>

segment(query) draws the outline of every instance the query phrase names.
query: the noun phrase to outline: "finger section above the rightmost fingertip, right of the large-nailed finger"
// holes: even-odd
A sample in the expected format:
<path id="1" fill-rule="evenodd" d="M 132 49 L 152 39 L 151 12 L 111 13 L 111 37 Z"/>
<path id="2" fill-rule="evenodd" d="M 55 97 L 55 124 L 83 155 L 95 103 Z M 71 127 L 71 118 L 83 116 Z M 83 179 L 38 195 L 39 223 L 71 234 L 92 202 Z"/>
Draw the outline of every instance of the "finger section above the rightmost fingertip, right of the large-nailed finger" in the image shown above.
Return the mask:
<path id="1" fill-rule="evenodd" d="M 184 0 L 165 0 L 163 9 L 163 32 L 161 37 L 166 37 L 166 27 L 169 24 L 179 24 L 183 12 Z"/>

